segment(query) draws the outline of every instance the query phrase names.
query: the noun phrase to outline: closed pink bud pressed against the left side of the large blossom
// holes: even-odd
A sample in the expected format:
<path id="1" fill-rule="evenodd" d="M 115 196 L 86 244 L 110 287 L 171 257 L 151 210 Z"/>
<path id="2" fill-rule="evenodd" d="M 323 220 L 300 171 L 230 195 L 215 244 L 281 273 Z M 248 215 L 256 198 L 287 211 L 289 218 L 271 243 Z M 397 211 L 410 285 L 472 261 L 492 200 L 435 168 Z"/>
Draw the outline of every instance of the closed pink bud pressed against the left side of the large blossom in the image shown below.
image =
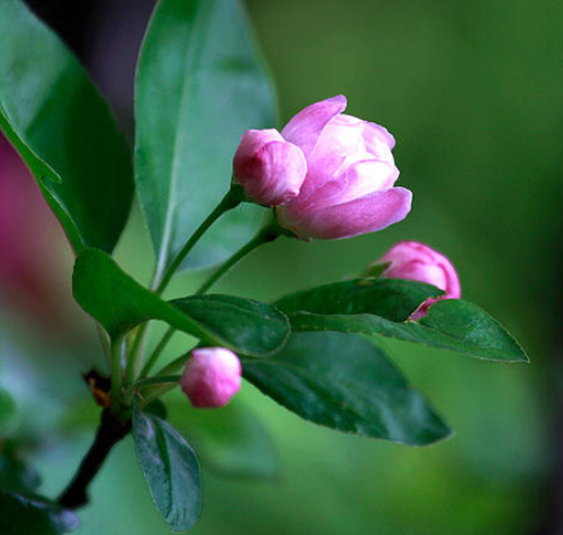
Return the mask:
<path id="1" fill-rule="evenodd" d="M 265 206 L 288 203 L 307 173 L 301 149 L 274 129 L 249 130 L 232 160 L 232 174 L 252 200 Z"/>

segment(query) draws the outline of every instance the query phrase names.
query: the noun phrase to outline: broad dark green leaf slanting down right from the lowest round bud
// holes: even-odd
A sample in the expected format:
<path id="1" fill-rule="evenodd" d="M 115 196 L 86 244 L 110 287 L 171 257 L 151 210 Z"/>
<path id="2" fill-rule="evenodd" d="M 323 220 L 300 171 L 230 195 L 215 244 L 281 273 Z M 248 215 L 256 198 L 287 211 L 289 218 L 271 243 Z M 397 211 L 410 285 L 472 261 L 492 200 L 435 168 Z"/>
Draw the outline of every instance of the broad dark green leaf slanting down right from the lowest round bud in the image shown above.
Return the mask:
<path id="1" fill-rule="evenodd" d="M 262 392 L 333 429 L 412 446 L 451 435 L 383 352 L 354 335 L 296 333 L 280 355 L 242 367 Z"/>

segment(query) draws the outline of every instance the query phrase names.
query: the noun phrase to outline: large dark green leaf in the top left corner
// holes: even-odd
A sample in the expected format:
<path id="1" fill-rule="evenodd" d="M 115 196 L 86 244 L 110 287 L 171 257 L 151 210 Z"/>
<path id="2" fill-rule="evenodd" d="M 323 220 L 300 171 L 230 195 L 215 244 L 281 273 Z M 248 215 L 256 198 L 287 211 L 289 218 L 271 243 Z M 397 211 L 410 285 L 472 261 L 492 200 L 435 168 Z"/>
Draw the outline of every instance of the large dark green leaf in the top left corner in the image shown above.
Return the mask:
<path id="1" fill-rule="evenodd" d="M 130 151 L 86 72 L 21 0 L 0 1 L 0 127 L 76 251 L 110 252 L 133 193 Z"/>

